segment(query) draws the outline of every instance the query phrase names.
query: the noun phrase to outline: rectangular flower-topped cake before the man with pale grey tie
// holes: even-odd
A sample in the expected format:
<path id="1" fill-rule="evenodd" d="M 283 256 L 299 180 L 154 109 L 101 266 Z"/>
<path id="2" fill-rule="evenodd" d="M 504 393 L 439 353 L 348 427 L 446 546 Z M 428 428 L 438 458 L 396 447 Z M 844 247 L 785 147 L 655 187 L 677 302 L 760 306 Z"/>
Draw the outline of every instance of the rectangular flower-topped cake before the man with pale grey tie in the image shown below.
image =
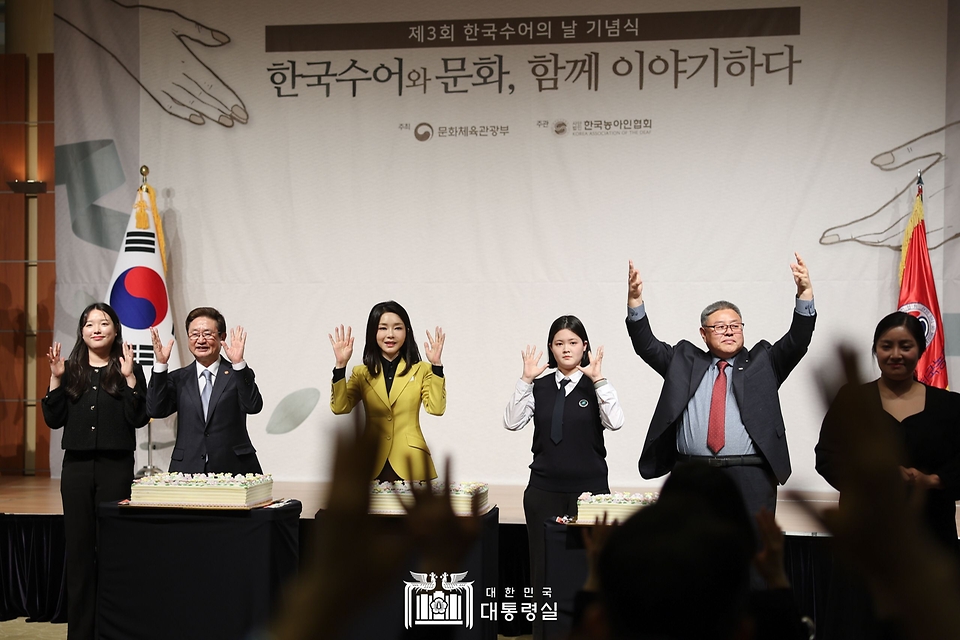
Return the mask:
<path id="1" fill-rule="evenodd" d="M 130 504 L 246 509 L 273 501 L 273 476 L 161 473 L 133 481 Z"/>

